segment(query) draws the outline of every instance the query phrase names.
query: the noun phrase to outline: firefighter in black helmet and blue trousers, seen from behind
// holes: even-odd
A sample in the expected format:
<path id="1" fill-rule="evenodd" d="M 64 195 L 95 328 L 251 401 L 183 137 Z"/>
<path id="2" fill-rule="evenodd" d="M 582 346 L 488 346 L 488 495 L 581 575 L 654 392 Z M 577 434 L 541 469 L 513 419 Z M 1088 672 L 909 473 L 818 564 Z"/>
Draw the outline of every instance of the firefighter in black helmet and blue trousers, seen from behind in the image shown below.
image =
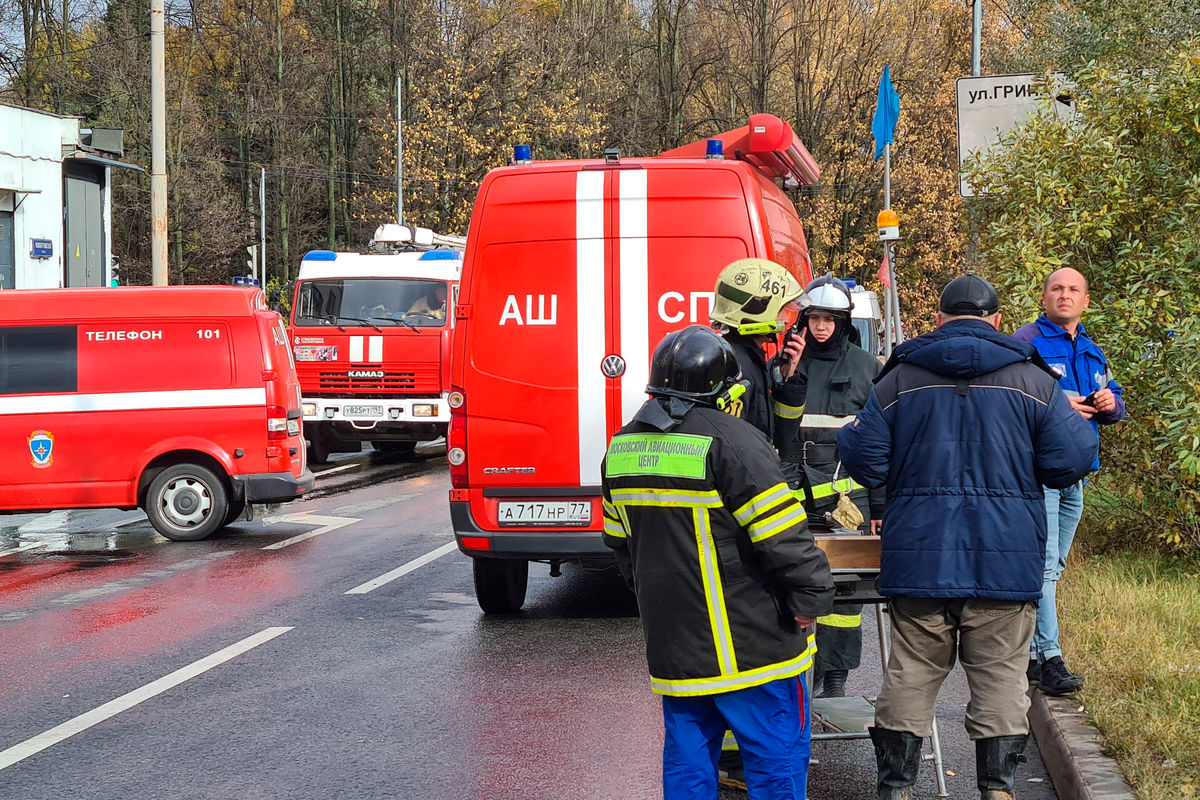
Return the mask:
<path id="1" fill-rule="evenodd" d="M 751 796 L 803 800 L 808 709 L 797 676 L 829 610 L 814 545 L 769 443 L 722 407 L 745 384 L 733 349 L 692 325 L 650 362 L 650 398 L 601 468 L 604 541 L 637 595 L 662 696 L 665 800 L 716 795 L 726 727 Z"/>

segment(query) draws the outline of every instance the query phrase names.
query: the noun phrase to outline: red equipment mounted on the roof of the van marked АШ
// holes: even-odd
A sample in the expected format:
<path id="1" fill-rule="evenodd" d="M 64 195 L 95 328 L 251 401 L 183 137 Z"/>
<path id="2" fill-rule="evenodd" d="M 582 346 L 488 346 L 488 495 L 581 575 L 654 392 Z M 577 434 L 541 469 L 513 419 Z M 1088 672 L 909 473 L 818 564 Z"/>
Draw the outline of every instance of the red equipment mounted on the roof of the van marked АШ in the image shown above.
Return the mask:
<path id="1" fill-rule="evenodd" d="M 721 142 L 726 157 L 752 164 L 768 178 L 781 179 L 788 186 L 811 186 L 821 180 L 821 167 L 800 142 L 792 126 L 774 114 L 755 114 L 750 124 L 667 150 L 660 158 L 703 158 L 712 152 L 713 140 Z"/>

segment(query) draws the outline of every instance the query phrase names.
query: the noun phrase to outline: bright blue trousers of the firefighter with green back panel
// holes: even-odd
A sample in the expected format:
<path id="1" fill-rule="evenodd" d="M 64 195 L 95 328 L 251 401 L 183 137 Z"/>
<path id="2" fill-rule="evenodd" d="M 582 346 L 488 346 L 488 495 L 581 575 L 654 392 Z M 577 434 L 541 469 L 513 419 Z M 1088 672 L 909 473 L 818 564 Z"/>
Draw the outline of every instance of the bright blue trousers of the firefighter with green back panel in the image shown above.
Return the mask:
<path id="1" fill-rule="evenodd" d="M 811 726 L 803 686 L 786 678 L 722 694 L 664 697 L 664 800 L 716 796 L 726 728 L 738 740 L 751 800 L 804 800 Z"/>

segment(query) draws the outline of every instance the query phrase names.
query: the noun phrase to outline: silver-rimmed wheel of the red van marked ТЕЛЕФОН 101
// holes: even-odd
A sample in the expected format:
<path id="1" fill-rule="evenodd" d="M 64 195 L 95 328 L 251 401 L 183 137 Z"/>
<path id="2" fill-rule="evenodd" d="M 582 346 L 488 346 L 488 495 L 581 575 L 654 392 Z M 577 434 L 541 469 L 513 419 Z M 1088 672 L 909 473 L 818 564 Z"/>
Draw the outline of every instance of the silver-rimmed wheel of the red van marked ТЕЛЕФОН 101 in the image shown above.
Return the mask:
<path id="1" fill-rule="evenodd" d="M 150 482 L 145 511 L 150 524 L 167 539 L 196 542 L 226 524 L 229 493 L 212 470 L 175 464 Z"/>

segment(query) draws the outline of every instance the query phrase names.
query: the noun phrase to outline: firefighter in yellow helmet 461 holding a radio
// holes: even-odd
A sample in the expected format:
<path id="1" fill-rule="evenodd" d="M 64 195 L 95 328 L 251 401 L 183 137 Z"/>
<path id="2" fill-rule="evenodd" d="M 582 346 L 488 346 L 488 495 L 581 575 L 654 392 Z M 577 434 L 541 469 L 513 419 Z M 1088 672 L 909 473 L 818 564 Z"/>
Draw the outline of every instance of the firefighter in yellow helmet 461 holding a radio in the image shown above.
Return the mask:
<path id="1" fill-rule="evenodd" d="M 763 345 L 776 342 L 804 307 L 804 288 L 786 269 L 763 258 L 733 261 L 716 278 L 713 327 L 733 347 L 749 383 L 730 413 L 758 428 L 772 444 L 786 429 L 794 437 L 804 413 L 804 384 L 790 380 L 804 353 L 800 338 L 790 339 L 774 357 Z"/>

